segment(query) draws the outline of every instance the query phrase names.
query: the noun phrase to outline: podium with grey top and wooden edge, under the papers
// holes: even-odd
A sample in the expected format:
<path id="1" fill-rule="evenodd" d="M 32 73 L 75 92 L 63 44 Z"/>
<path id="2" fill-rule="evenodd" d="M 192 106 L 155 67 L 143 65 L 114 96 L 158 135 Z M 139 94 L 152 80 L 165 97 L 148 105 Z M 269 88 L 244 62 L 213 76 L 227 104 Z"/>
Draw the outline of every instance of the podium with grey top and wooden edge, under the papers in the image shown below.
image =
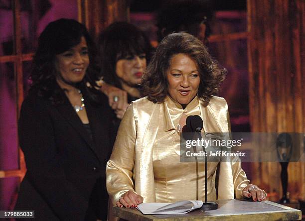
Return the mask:
<path id="1" fill-rule="evenodd" d="M 213 211 L 192 211 L 182 215 L 144 215 L 137 209 L 114 207 L 116 217 L 127 221 L 272 221 L 301 220 L 302 212 L 271 201 L 252 202 L 249 200 L 217 201 L 218 209 Z"/>

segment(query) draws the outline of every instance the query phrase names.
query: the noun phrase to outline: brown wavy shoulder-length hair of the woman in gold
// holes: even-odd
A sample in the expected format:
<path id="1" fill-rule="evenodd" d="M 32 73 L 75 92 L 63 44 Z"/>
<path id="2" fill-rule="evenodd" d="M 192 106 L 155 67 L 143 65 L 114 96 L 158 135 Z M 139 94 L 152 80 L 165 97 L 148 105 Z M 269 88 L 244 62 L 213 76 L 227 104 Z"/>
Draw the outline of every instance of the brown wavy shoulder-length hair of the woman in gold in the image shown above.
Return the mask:
<path id="1" fill-rule="evenodd" d="M 186 54 L 195 61 L 200 75 L 197 96 L 207 106 L 212 96 L 218 93 L 225 79 L 226 69 L 219 67 L 199 39 L 184 32 L 169 34 L 158 45 L 143 75 L 144 95 L 153 103 L 164 101 L 168 94 L 166 72 L 171 58 L 179 53 Z"/>

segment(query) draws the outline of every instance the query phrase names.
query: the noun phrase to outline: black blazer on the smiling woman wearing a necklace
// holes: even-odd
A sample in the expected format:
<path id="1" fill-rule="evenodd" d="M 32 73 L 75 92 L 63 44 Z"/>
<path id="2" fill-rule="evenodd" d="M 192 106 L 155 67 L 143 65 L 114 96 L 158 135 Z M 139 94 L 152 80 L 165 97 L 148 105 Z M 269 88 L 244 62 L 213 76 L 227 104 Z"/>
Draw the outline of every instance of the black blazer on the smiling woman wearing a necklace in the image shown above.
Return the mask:
<path id="1" fill-rule="evenodd" d="M 34 210 L 36 220 L 96 220 L 93 205 L 100 208 L 100 219 L 106 220 L 105 170 L 114 140 L 112 110 L 106 96 L 100 95 L 98 105 L 88 102 L 83 92 L 91 139 L 61 93 L 61 105 L 34 95 L 22 104 L 19 143 L 27 172 L 14 210 Z"/>

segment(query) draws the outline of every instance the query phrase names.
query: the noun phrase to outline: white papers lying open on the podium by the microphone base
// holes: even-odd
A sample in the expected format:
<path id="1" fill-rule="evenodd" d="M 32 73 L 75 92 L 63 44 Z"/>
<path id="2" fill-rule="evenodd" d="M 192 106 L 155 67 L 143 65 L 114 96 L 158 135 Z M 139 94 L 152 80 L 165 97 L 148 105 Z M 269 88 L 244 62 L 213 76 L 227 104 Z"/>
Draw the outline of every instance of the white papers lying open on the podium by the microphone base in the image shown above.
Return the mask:
<path id="1" fill-rule="evenodd" d="M 143 203 L 137 209 L 143 214 L 186 214 L 190 211 L 202 207 L 201 200 L 179 201 L 173 204 L 167 203 Z"/>

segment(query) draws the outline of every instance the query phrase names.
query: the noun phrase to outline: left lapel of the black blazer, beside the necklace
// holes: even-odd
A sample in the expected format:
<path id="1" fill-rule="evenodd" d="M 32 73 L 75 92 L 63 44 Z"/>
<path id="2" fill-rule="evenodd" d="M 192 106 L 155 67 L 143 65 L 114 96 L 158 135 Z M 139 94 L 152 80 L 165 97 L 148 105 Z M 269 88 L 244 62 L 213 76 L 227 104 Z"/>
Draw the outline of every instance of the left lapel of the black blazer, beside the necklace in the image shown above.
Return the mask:
<path id="1" fill-rule="evenodd" d="M 85 142 L 89 145 L 89 147 L 96 154 L 95 145 L 92 142 L 92 140 L 90 139 L 89 134 L 86 131 L 85 127 L 83 126 L 83 122 L 81 121 L 81 119 L 79 118 L 77 113 L 75 112 L 74 108 L 72 107 L 72 105 L 69 102 L 69 99 L 67 98 L 67 96 L 65 95 L 65 93 L 62 90 L 61 90 L 61 96 L 63 98 L 63 103 L 55 106 L 56 109 L 64 117 L 64 119 L 76 130 L 76 132 L 80 135 L 80 137 L 85 140 Z M 86 101 L 84 101 L 84 102 L 85 102 L 86 111 L 88 111 L 87 110 L 88 102 L 86 102 Z M 88 107 L 88 109 L 90 110 L 90 107 Z M 89 118 L 89 116 L 88 116 L 88 118 Z M 89 122 L 90 122 L 90 118 L 89 118 Z"/>

